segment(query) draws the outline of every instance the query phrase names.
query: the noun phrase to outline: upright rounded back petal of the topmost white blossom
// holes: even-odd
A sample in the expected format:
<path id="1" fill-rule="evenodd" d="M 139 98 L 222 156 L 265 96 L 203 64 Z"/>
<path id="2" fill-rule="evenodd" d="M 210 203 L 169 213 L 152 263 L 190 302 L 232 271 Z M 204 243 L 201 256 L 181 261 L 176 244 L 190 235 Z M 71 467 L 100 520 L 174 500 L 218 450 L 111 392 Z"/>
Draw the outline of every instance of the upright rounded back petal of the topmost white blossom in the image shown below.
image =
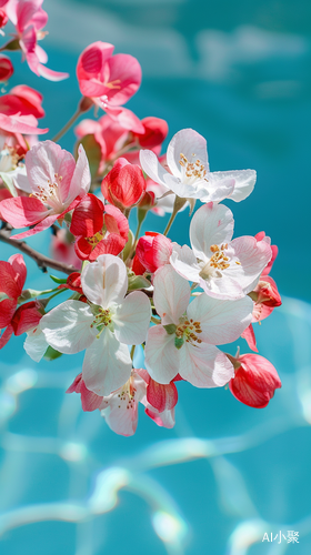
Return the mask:
<path id="1" fill-rule="evenodd" d="M 168 165 L 175 176 L 181 176 L 180 154 L 183 154 L 190 163 L 200 160 L 201 164 L 209 171 L 207 141 L 193 129 L 182 129 L 172 138 L 167 152 Z"/>

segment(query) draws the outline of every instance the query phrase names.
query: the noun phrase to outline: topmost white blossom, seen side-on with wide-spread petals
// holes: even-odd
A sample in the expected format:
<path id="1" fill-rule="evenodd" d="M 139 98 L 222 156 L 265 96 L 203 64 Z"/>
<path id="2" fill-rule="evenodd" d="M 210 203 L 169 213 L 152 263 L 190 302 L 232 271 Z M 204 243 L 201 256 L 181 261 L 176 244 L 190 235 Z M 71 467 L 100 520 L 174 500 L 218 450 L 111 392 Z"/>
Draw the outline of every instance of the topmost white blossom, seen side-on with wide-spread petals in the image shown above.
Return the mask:
<path id="1" fill-rule="evenodd" d="M 201 202 L 232 199 L 240 202 L 254 188 L 254 170 L 210 172 L 207 141 L 193 129 L 183 129 L 172 138 L 167 160 L 169 172 L 153 152 L 140 152 L 140 163 L 147 175 L 182 199 L 199 199 Z"/>

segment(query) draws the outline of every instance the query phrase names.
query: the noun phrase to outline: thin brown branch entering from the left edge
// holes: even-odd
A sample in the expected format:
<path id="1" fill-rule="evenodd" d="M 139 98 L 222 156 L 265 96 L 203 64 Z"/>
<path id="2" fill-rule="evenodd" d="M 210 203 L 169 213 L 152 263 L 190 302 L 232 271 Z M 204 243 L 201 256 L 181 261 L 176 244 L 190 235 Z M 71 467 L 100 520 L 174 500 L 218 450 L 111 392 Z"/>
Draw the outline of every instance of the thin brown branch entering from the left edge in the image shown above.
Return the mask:
<path id="1" fill-rule="evenodd" d="M 9 223 L 3 223 L 0 230 L 0 241 L 2 241 L 2 243 L 7 243 L 13 246 L 13 249 L 18 249 L 22 253 L 30 256 L 32 260 L 34 260 L 38 268 L 40 268 L 42 272 L 48 272 L 48 268 L 52 268 L 53 270 L 63 272 L 67 275 L 70 275 L 72 272 L 79 272 L 79 270 L 69 264 L 63 264 L 62 262 L 49 259 L 48 256 L 44 256 L 44 254 L 34 251 L 34 249 L 29 246 L 24 241 L 19 241 L 18 239 L 11 239 L 10 234 L 12 229 L 13 228 Z"/>

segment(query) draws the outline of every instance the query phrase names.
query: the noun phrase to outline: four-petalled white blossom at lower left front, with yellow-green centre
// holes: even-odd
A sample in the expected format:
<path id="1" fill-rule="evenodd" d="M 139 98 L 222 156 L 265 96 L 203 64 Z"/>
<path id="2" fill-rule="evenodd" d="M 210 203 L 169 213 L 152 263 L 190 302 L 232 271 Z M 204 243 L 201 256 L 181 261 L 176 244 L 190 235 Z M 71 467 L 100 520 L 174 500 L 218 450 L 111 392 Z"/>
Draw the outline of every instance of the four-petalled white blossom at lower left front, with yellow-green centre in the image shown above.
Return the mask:
<path id="1" fill-rule="evenodd" d="M 88 303 L 66 301 L 42 317 L 41 330 L 61 353 L 86 349 L 82 375 L 87 387 L 110 395 L 130 376 L 128 345 L 146 340 L 150 302 L 140 291 L 126 296 L 127 268 L 112 254 L 101 254 L 87 265 L 81 284 Z"/>

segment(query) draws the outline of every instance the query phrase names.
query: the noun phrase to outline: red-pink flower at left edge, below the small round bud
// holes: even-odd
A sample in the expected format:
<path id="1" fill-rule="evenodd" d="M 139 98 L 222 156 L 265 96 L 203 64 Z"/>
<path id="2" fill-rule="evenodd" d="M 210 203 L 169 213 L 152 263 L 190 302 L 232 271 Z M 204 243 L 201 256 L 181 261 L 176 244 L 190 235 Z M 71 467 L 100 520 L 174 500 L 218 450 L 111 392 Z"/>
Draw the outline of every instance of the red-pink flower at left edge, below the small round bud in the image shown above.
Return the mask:
<path id="1" fill-rule="evenodd" d="M 20 115 L 43 118 L 46 112 L 41 105 L 42 99 L 40 92 L 26 84 L 19 84 L 0 98 L 0 113 L 6 115 L 19 113 Z"/>

